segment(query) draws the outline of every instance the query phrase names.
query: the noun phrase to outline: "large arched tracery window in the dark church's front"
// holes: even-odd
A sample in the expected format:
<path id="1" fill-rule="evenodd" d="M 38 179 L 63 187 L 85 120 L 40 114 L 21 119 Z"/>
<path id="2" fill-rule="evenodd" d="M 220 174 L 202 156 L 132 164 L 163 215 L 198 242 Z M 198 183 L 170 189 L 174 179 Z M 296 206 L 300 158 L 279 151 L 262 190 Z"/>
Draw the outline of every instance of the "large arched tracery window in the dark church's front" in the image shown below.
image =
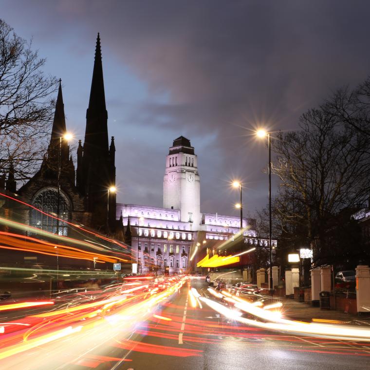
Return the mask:
<path id="1" fill-rule="evenodd" d="M 57 233 L 59 235 L 67 235 L 67 223 L 64 221 L 57 222 L 56 218 L 48 216 L 47 214 L 57 214 L 58 211 L 58 191 L 55 188 L 46 188 L 41 190 L 34 200 L 32 205 L 36 209 L 31 211 L 31 226 L 38 229 L 48 231 L 50 233 Z M 67 221 L 70 214 L 70 203 L 63 193 L 59 193 L 59 219 Z"/>

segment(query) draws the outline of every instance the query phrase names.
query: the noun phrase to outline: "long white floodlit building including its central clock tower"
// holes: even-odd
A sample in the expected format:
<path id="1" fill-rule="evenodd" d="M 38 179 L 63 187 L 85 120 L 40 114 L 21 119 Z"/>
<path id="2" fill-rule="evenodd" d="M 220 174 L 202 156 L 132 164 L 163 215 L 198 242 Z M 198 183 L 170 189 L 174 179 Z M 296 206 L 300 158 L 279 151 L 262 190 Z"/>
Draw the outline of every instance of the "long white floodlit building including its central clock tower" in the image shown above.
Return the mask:
<path id="1" fill-rule="evenodd" d="M 200 203 L 198 158 L 190 141 L 180 136 L 166 156 L 163 208 L 117 203 L 117 219 L 128 225 L 125 236 L 131 239 L 139 274 L 190 272 L 196 246 L 203 255 L 215 254 L 222 241 L 240 231 L 239 217 L 202 213 Z M 244 243 L 267 246 L 267 240 L 256 238 L 255 220 L 243 218 L 242 227 Z"/>

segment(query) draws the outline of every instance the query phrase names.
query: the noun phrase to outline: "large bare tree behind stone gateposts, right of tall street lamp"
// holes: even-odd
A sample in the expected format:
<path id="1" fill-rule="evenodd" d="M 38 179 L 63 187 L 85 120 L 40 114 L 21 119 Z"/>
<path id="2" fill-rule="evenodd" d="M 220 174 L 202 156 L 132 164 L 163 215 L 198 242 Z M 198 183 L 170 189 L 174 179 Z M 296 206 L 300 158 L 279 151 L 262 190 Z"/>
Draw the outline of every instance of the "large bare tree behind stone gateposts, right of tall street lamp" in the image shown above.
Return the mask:
<path id="1" fill-rule="evenodd" d="M 281 181 L 276 211 L 285 231 L 303 233 L 319 263 L 333 218 L 370 190 L 369 138 L 324 108 L 307 111 L 300 131 L 280 132 L 273 141 L 273 172 Z"/>

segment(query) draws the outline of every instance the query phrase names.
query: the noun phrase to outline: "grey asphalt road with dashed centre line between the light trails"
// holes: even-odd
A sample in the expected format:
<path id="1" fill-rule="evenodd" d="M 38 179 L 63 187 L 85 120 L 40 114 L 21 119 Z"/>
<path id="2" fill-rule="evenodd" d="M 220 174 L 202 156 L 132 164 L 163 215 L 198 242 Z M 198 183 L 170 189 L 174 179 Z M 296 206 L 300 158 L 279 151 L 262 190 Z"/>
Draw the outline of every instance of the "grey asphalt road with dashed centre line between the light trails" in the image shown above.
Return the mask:
<path id="1" fill-rule="evenodd" d="M 199 292 L 207 287 L 203 280 L 191 283 Z M 138 325 L 127 341 L 103 353 L 125 361 L 106 362 L 96 369 L 370 369 L 370 343 L 291 336 L 238 325 L 207 307 L 192 308 L 186 285 L 157 314 L 171 321 L 151 318 Z"/>

